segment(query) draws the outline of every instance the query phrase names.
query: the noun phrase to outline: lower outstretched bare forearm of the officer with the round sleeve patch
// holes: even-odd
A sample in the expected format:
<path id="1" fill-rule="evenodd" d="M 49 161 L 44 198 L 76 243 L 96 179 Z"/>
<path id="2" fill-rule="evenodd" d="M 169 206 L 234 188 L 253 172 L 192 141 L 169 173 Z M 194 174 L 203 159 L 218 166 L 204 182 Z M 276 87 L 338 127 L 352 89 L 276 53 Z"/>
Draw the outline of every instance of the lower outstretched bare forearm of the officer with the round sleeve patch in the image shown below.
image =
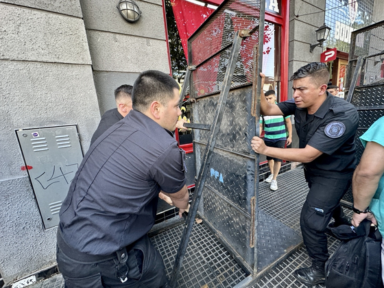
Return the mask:
<path id="1" fill-rule="evenodd" d="M 263 139 L 260 139 L 257 136 L 252 138 L 251 147 L 254 152 L 259 154 L 301 163 L 312 162 L 321 154 L 323 154 L 323 152 L 320 150 L 317 150 L 316 148 L 313 148 L 309 145 L 305 146 L 304 148 L 291 149 L 268 147 L 264 144 Z"/>

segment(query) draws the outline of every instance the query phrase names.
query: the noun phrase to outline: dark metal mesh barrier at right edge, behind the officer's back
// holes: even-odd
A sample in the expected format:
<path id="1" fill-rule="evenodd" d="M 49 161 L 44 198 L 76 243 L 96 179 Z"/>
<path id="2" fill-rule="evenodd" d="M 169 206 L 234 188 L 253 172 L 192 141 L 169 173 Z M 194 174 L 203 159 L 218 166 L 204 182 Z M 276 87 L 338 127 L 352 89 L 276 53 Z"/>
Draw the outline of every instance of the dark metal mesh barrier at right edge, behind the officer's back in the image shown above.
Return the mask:
<path id="1" fill-rule="evenodd" d="M 348 99 L 359 112 L 355 143 L 360 160 L 364 147 L 359 137 L 384 116 L 384 21 L 352 32 L 349 57 L 346 88 Z M 353 202 L 351 189 L 343 199 Z"/>

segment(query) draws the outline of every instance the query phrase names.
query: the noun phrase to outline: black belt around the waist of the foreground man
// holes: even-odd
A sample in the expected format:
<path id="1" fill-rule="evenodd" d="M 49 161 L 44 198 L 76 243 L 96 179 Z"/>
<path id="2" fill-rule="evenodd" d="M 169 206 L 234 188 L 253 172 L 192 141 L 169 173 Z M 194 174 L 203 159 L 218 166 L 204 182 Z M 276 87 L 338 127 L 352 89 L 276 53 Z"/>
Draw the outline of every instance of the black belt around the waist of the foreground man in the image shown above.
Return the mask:
<path id="1" fill-rule="evenodd" d="M 69 246 L 62 238 L 60 228 L 58 228 L 58 246 L 62 252 L 69 258 L 79 262 L 101 262 L 108 261 L 117 257 L 118 261 L 125 262 L 128 259 L 127 248 L 124 247 L 108 255 L 92 255 L 84 252 L 77 251 Z M 131 246 L 131 245 L 130 245 Z"/>

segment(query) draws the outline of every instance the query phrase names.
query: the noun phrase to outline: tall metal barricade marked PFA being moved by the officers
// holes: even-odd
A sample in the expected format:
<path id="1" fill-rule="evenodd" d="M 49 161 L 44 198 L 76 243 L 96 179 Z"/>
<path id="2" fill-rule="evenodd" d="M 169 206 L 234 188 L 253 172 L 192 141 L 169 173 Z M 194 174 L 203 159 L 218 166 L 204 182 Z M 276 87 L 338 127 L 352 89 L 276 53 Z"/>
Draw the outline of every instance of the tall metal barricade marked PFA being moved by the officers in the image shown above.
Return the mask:
<path id="1" fill-rule="evenodd" d="M 263 34 L 264 13 L 263 0 L 225 1 L 189 38 L 188 44 L 189 67 L 193 67 L 189 81 L 193 123 L 189 127 L 211 127 L 193 130 L 199 176 L 192 205 L 197 202 L 204 224 L 237 263 L 254 276 L 301 243 L 297 231 L 259 211 L 259 155 L 252 151 L 250 141 L 252 136 L 259 135 L 263 49 L 258 48 L 263 47 L 263 37 L 259 35 Z M 243 39 L 239 51 L 232 53 L 238 32 Z M 235 57 L 235 67 L 230 82 L 226 82 L 231 57 Z M 221 103 L 226 89 L 227 99 Z M 217 123 L 221 104 L 222 119 Z M 217 135 L 210 150 L 215 128 Z M 208 161 L 207 151 L 211 151 Z M 200 180 L 201 174 L 204 181 Z M 199 187 L 201 202 L 195 201 Z M 191 211 L 189 214 L 187 228 L 193 224 Z M 171 283 L 175 283 L 180 270 L 180 246 Z"/>

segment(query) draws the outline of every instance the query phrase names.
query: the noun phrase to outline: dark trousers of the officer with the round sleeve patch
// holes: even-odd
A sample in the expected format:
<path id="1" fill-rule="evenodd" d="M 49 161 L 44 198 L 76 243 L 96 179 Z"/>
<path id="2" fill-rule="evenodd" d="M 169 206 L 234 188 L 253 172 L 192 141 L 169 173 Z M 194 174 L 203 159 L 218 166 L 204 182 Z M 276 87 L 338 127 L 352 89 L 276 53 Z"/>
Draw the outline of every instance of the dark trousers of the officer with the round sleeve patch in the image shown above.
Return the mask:
<path id="1" fill-rule="evenodd" d="M 300 228 L 304 245 L 313 265 L 324 268 L 328 260 L 326 227 L 333 217 L 335 223 L 344 217 L 339 204 L 352 182 L 352 172 L 319 175 L 304 169 L 309 193 L 302 206 Z"/>

